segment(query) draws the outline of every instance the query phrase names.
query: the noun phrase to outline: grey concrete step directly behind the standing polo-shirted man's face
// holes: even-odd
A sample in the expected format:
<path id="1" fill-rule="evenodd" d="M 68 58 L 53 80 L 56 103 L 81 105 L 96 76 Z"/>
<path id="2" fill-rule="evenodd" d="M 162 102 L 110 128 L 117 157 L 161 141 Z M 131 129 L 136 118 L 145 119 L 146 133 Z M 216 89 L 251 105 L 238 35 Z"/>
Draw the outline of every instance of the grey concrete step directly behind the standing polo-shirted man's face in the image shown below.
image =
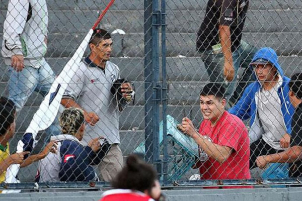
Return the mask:
<path id="1" fill-rule="evenodd" d="M 85 35 L 83 34 L 49 34 L 49 46 L 46 57 L 70 57 L 78 48 Z M 2 34 L 0 34 L 2 39 Z M 282 33 L 244 33 L 243 40 L 257 47 L 272 47 L 278 55 L 301 55 L 302 32 Z M 0 40 L 0 44 L 2 40 Z M 143 57 L 143 33 L 124 35 L 123 48 L 121 40 L 115 41 L 112 56 Z M 116 47 L 116 48 L 115 48 Z M 198 56 L 195 33 L 167 33 L 166 50 L 168 57 Z M 88 54 L 88 51 L 86 52 Z"/>

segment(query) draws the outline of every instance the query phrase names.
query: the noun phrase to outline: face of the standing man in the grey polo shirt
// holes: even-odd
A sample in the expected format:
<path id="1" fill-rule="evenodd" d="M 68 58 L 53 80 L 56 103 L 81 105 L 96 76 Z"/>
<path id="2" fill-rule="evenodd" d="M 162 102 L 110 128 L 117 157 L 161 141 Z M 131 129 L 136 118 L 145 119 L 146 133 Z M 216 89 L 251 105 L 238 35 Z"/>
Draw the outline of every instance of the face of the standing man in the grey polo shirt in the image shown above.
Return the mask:
<path id="1" fill-rule="evenodd" d="M 91 51 L 96 57 L 95 59 L 101 61 L 108 61 L 112 51 L 112 39 L 101 40 L 98 45 L 91 44 Z"/>

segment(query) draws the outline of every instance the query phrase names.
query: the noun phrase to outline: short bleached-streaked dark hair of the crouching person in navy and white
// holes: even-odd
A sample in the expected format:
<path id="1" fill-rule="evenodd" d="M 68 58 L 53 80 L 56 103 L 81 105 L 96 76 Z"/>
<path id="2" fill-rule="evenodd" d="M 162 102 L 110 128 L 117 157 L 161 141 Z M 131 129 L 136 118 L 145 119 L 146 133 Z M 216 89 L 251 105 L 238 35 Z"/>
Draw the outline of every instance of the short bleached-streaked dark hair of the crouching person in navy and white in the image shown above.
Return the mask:
<path id="1" fill-rule="evenodd" d="M 84 113 L 79 108 L 65 109 L 59 118 L 63 134 L 74 135 L 85 122 Z"/>

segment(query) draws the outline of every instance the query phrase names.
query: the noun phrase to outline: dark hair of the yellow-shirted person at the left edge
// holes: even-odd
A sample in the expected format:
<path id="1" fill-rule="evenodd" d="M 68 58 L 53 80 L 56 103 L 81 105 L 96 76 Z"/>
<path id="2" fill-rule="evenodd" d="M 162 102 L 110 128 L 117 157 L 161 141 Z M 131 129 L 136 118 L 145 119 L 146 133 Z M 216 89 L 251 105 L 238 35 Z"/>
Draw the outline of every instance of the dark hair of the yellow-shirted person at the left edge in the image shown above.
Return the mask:
<path id="1" fill-rule="evenodd" d="M 16 107 L 12 100 L 0 97 L 0 135 L 6 134 L 15 121 Z"/>

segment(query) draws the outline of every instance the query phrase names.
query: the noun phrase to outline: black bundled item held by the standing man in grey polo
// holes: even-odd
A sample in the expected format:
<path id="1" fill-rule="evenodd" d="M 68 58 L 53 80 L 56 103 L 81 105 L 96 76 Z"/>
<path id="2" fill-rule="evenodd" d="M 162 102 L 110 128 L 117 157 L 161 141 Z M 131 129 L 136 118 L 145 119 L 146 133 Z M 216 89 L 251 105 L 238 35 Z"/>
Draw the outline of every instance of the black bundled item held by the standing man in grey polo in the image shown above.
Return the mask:
<path id="1" fill-rule="evenodd" d="M 123 96 L 123 92 L 122 92 L 122 84 L 123 83 L 129 83 L 131 85 L 131 90 L 126 93 L 126 97 Z M 122 112 L 126 106 L 133 101 L 134 104 L 134 100 L 135 100 L 135 87 L 133 82 L 127 81 L 125 79 L 117 79 L 111 89 L 110 89 L 111 93 L 114 96 L 114 99 L 116 100 L 116 104 L 118 106 L 118 110 L 119 112 Z"/>

